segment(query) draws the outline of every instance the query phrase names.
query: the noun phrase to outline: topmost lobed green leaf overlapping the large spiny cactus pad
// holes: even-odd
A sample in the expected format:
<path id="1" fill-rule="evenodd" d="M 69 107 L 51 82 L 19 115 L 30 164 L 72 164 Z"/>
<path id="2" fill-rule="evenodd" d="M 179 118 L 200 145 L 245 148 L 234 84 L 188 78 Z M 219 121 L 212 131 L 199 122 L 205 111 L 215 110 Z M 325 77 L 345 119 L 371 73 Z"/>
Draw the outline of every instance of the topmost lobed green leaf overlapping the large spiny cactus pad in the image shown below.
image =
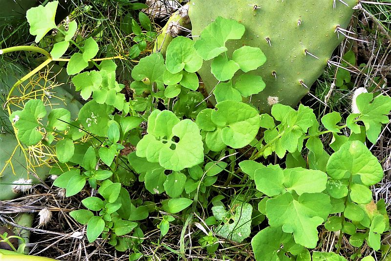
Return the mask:
<path id="1" fill-rule="evenodd" d="M 217 17 L 202 30 L 194 47 L 202 59 L 208 61 L 227 51 L 225 43 L 231 39 L 240 39 L 245 31 L 244 25 L 232 19 Z"/>

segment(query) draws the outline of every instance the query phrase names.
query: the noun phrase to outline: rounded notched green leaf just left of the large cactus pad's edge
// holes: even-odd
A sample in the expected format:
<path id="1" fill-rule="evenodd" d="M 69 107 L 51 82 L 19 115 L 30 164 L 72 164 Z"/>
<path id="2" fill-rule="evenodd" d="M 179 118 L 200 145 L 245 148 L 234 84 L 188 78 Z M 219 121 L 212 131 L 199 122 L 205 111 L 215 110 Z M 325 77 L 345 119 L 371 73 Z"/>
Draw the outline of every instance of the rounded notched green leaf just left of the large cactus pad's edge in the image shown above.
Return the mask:
<path id="1" fill-rule="evenodd" d="M 166 51 L 167 70 L 171 73 L 178 73 L 183 69 L 187 72 L 198 71 L 202 66 L 202 58 L 196 53 L 194 44 L 190 38 L 175 37 Z"/>

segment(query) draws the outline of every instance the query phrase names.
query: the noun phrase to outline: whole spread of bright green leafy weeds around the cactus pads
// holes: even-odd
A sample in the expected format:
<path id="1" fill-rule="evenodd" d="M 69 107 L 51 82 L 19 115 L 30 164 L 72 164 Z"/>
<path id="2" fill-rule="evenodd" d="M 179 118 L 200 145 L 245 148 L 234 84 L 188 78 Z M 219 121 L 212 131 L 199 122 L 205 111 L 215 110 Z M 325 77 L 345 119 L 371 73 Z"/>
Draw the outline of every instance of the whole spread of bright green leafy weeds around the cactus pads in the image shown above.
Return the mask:
<path id="1" fill-rule="evenodd" d="M 36 41 L 56 28 L 56 8 L 54 1 L 28 12 Z M 48 19 L 44 26 L 38 20 L 43 14 Z M 149 20 L 143 15 L 139 20 L 152 32 Z M 70 26 L 61 44 L 53 48 L 53 56 L 64 54 L 75 28 L 77 24 Z M 143 33 L 134 20 L 131 30 L 141 51 L 152 34 Z M 152 212 L 165 212 L 160 222 L 154 222 L 164 237 L 171 223 L 182 222 L 168 214 L 181 212 L 191 217 L 198 204 L 209 208 L 211 201 L 213 216 L 205 224 L 215 227 L 199 239 L 209 253 L 218 247 L 216 236 L 246 240 L 254 214 L 259 216 L 258 224 L 265 218 L 269 224 L 251 240 L 257 260 L 310 261 L 308 249 L 317 246 L 320 225 L 339 231 L 340 237 L 349 235 L 354 247 L 365 240 L 372 249 L 380 249 L 380 236 L 389 229 L 389 220 L 384 201 L 375 204 L 369 186 L 382 179 L 383 171 L 364 142 L 366 138 L 376 142 L 382 124 L 389 121 L 391 98 L 359 95 L 360 113 L 351 114 L 346 125 L 339 124 L 342 117 L 338 112 L 331 112 L 322 117 L 321 128 L 313 110 L 303 105 L 295 110 L 276 104 L 271 115 L 260 115 L 243 103 L 242 97 L 265 87 L 260 76 L 248 72 L 266 58 L 259 48 L 242 46 L 229 59 L 225 47 L 227 41 L 239 40 L 244 31 L 239 22 L 218 17 L 196 41 L 175 38 L 166 59 L 160 53 L 140 59 L 131 72 L 134 97 L 129 102 L 120 93 L 124 86 L 116 82 L 113 61 L 81 73 L 99 51 L 95 40 L 88 38 L 67 65 L 68 74 L 74 75 L 72 83 L 82 98 L 89 100 L 77 120 L 70 118 L 67 109 L 53 109 L 43 124 L 47 112 L 41 100 L 30 100 L 10 115 L 22 143 L 31 146 L 42 141 L 56 147 L 59 162 L 51 174 L 59 174 L 54 185 L 64 188 L 65 196 L 79 193 L 87 181 L 97 192 L 82 201 L 87 209 L 70 214 L 87 224 L 90 242 L 101 236 L 118 251 L 135 250 L 144 237 L 141 221 Z M 204 96 L 197 91 L 195 72 L 203 61 L 212 59 L 211 71 L 219 84 L 213 93 L 216 107 L 207 109 Z M 236 77 L 239 70 L 243 73 Z M 156 109 L 157 104 L 172 110 Z M 140 126 L 143 121 L 147 121 L 146 133 Z M 257 140 L 260 128 L 264 134 Z M 344 128 L 350 130 L 349 136 L 341 134 Z M 331 155 L 320 139 L 326 133 L 333 136 Z M 233 152 L 249 144 L 254 147 L 252 156 L 235 170 Z M 127 156 L 125 150 L 130 151 Z M 272 153 L 286 157 L 285 169 L 255 161 Z M 246 174 L 246 184 L 257 197 L 250 200 L 237 195 L 229 204 L 222 202 L 222 195 L 210 200 L 218 177 L 227 173 Z M 163 197 L 159 204 L 130 198 L 125 186 L 133 185 L 135 175 L 152 195 Z M 312 252 L 312 260 L 325 259 L 344 260 L 334 253 Z"/>

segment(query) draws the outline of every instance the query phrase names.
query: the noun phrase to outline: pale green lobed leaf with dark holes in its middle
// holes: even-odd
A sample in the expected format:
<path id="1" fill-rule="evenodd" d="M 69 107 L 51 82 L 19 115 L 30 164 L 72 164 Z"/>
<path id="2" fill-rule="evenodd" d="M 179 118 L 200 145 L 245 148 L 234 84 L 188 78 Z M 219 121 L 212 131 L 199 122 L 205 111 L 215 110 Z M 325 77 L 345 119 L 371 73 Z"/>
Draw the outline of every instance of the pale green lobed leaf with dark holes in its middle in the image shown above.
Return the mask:
<path id="1" fill-rule="evenodd" d="M 147 157 L 148 161 L 159 162 L 163 168 L 173 171 L 181 171 L 203 161 L 202 137 L 191 120 L 179 121 L 172 111 L 154 110 L 148 117 L 147 132 L 137 144 L 137 156 Z"/>

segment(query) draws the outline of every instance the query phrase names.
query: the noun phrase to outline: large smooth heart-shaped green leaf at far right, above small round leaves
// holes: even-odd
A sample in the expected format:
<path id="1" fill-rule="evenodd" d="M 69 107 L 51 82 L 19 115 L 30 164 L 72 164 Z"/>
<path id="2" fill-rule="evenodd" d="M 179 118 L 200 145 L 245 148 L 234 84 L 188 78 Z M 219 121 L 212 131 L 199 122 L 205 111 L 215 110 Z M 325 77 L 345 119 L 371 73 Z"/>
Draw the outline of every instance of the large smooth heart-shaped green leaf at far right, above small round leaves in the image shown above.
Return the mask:
<path id="1" fill-rule="evenodd" d="M 376 184 L 383 178 L 377 158 L 360 141 L 349 141 L 334 152 L 327 162 L 327 174 L 334 179 L 358 176 L 364 185 Z"/>

